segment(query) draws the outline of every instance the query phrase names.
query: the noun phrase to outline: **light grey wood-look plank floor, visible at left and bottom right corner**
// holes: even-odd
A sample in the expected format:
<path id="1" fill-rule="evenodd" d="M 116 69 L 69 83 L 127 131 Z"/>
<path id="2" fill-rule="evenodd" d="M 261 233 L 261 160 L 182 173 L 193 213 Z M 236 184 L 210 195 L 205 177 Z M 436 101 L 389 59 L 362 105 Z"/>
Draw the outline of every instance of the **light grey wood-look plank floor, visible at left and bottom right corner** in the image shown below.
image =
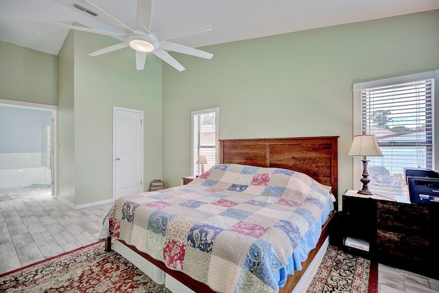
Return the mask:
<path id="1" fill-rule="evenodd" d="M 97 241 L 112 204 L 71 209 L 50 187 L 0 189 L 0 274 Z M 379 293 L 439 292 L 439 281 L 378 266 Z"/>

